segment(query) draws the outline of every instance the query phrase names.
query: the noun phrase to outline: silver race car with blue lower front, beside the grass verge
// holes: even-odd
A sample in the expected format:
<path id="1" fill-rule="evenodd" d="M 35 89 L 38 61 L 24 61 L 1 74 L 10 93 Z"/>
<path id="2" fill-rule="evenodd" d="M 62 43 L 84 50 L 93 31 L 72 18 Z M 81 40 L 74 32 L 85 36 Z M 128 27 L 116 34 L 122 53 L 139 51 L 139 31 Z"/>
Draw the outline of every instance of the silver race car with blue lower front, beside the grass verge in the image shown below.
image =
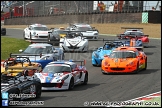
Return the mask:
<path id="1" fill-rule="evenodd" d="M 15 56 L 29 57 L 30 61 L 37 62 L 44 68 L 49 62 L 56 60 L 64 60 L 64 52 L 61 48 L 56 48 L 51 43 L 51 41 L 31 41 L 30 44 L 24 51 L 19 50 L 21 54 L 15 54 Z M 40 56 L 41 54 L 41 56 Z"/>

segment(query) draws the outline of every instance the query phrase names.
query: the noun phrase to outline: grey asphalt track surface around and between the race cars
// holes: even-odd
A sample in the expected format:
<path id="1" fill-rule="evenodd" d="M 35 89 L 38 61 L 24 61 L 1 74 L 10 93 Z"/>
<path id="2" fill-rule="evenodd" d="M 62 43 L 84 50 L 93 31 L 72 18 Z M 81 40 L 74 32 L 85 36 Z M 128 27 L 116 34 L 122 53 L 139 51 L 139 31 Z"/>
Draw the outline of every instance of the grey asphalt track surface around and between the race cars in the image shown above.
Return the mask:
<path id="1" fill-rule="evenodd" d="M 7 29 L 6 37 L 23 39 L 23 30 Z M 114 39 L 113 36 L 100 38 Z M 89 48 L 103 46 L 102 41 L 90 41 Z M 100 67 L 91 64 L 91 53 L 66 53 L 66 59 L 84 60 L 89 72 L 87 85 L 75 86 L 72 91 L 42 91 L 39 99 L 44 101 L 38 107 L 83 107 L 84 102 L 126 101 L 161 91 L 161 40 L 150 39 L 149 47 L 144 48 L 148 56 L 148 68 L 138 74 L 103 75 Z"/>

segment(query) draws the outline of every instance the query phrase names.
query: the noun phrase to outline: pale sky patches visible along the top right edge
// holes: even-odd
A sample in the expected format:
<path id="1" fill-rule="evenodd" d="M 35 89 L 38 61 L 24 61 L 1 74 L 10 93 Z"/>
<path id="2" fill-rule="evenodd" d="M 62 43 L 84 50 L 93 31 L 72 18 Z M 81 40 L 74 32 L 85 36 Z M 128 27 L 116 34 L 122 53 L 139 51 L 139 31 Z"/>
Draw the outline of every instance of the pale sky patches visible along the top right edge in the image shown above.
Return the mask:
<path id="1" fill-rule="evenodd" d="M 103 1 L 105 5 L 111 5 L 111 2 L 114 4 L 115 1 Z M 131 2 L 131 1 L 130 1 Z M 152 7 L 155 7 L 158 1 L 144 1 L 144 10 L 151 10 Z M 159 5 L 156 10 L 159 10 L 159 6 L 161 6 L 161 1 L 159 1 Z"/>

